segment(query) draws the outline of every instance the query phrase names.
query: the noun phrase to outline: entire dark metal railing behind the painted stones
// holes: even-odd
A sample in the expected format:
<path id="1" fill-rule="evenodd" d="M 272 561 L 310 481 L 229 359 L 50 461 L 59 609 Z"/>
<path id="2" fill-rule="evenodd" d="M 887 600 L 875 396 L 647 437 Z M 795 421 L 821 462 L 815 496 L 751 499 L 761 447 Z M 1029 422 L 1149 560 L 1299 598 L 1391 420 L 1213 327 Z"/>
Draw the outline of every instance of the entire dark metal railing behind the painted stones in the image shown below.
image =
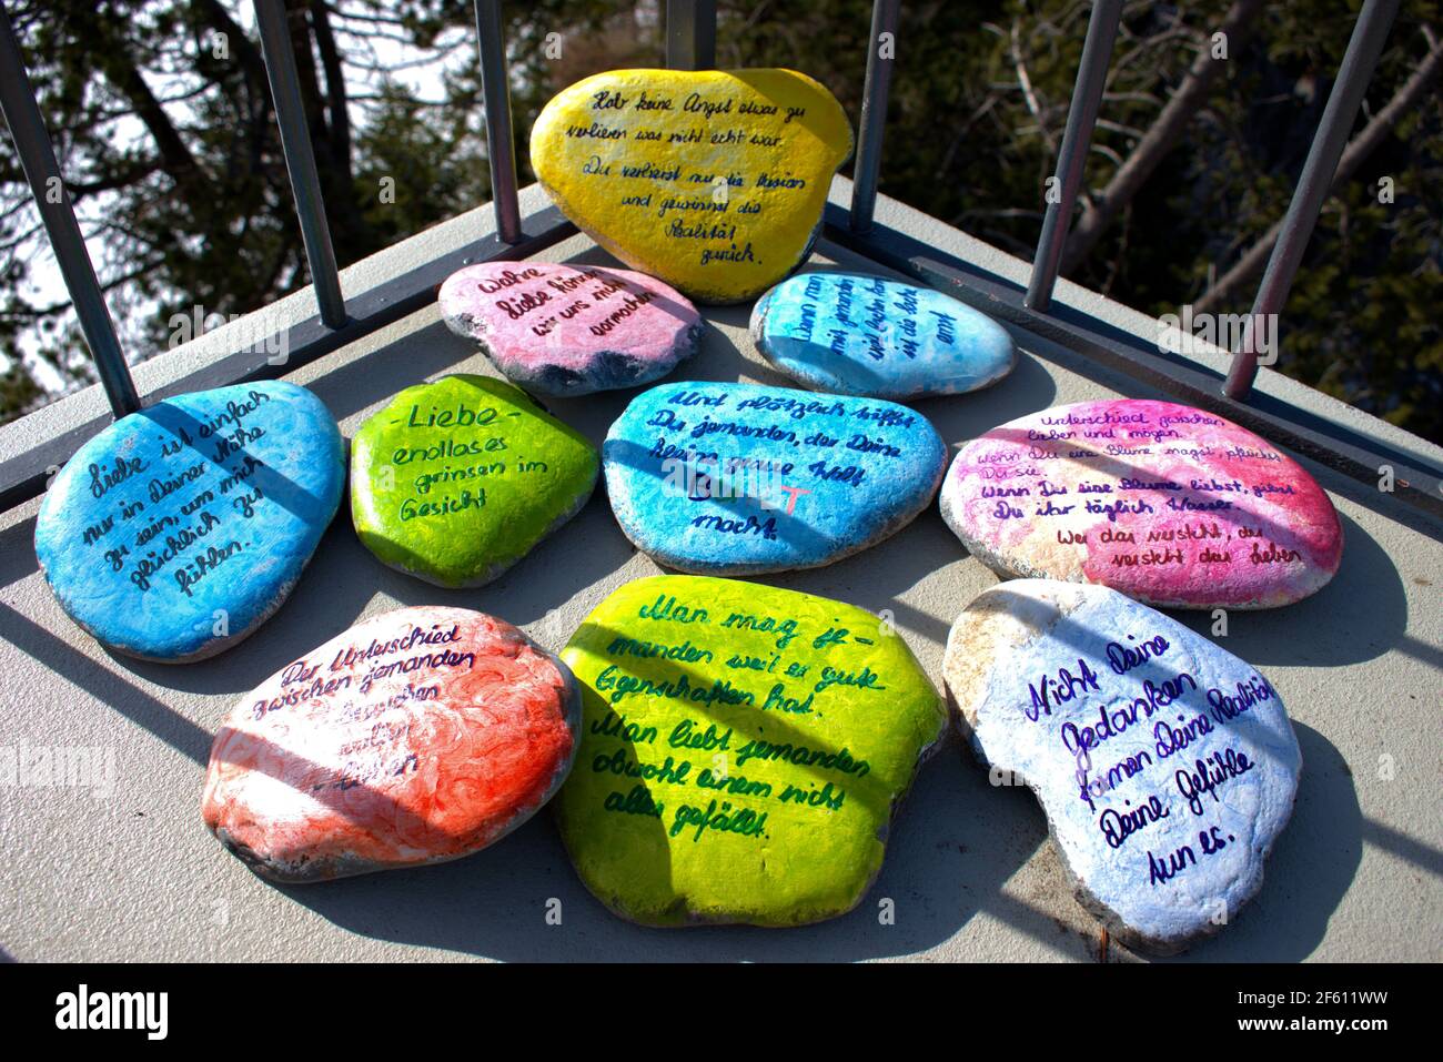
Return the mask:
<path id="1" fill-rule="evenodd" d="M 280 127 L 281 146 L 296 198 L 296 212 L 300 216 L 300 231 L 317 304 L 317 315 L 313 319 L 291 326 L 283 338 L 286 342 L 283 349 L 290 351 L 287 371 L 420 309 L 433 297 L 436 286 L 463 263 L 522 258 L 545 250 L 576 231 L 554 208 L 538 211 L 525 219 L 519 215 L 501 3 L 499 0 L 475 0 L 475 6 L 496 232 L 468 248 L 463 257 L 444 255 L 427 267 L 391 280 L 378 290 L 346 300 L 341 290 L 330 231 L 326 224 L 325 201 L 320 195 L 310 133 L 296 79 L 284 0 L 255 0 L 255 16 L 276 120 Z M 899 241 L 895 234 L 876 229 L 873 224 L 877 176 L 882 169 L 887 94 L 895 63 L 892 55 L 895 55 L 899 6 L 899 0 L 874 0 L 873 3 L 861 121 L 853 166 L 851 205 L 844 216 L 837 216 L 837 212 L 828 208 L 825 215 L 827 234 L 847 247 L 860 250 L 885 264 L 903 268 L 918 278 L 939 287 L 954 289 L 954 293 L 965 297 L 967 302 L 980 304 L 1013 323 L 1063 342 L 1072 349 L 1108 359 L 1114 343 L 1108 343 L 1105 339 L 1089 339 L 1065 316 L 1055 315 L 1051 310 L 1051 303 L 1068 227 L 1081 192 L 1084 162 L 1102 100 L 1123 0 L 1095 0 L 1092 4 L 1076 85 L 1058 153 L 1058 195 L 1051 198 L 1048 203 L 1033 257 L 1032 277 L 1026 294 L 1020 300 L 1013 297 L 1013 293 L 990 284 L 984 278 L 970 276 L 965 268 L 957 268 L 957 263 L 934 261 L 926 255 L 925 248 L 905 247 L 905 241 Z M 1250 322 L 1258 320 L 1258 315 L 1280 313 L 1287 302 L 1293 276 L 1326 199 L 1348 133 L 1397 12 L 1398 0 L 1365 0 L 1364 3 L 1291 205 L 1283 221 L 1281 235 L 1273 248 L 1254 299 Z M 883 40 L 883 35 L 889 33 L 893 49 L 887 49 L 885 55 L 879 42 Z M 716 62 L 714 0 L 667 0 L 665 40 L 668 66 L 678 69 L 713 66 Z M 85 250 L 69 195 L 65 192 L 63 177 L 59 173 L 55 152 L 25 71 L 4 0 L 0 0 L 0 110 L 4 113 L 26 180 L 39 205 L 46 234 L 94 358 L 95 371 L 110 398 L 111 411 L 114 417 L 134 413 L 141 405 L 140 397 L 115 335 L 105 297 L 95 278 L 94 266 Z M 53 189 L 59 189 L 59 195 Z M 1111 356 L 1127 355 L 1114 349 Z M 1136 358 L 1136 351 L 1131 356 Z M 1182 391 L 1185 397 L 1190 395 L 1199 404 L 1216 405 L 1216 400 L 1222 400 L 1229 410 L 1235 410 L 1237 403 L 1250 395 L 1257 365 L 1258 351 L 1250 323 L 1244 332 L 1241 348 L 1234 352 L 1222 394 L 1218 394 L 1215 379 L 1205 377 L 1186 379 L 1186 372 L 1182 374 L 1185 378 Z M 1160 367 L 1159 372 L 1163 372 Z M 264 375 L 274 374 L 267 372 L 266 365 L 258 362 L 254 355 L 237 352 L 218 359 L 203 372 L 192 374 L 167 390 L 173 392 Z M 1172 384 L 1170 390 L 1179 390 L 1176 367 L 1166 371 L 1165 375 Z M 1253 420 L 1250 417 L 1240 418 Z M 1250 426 L 1255 430 L 1263 429 L 1264 434 L 1304 452 L 1326 450 L 1335 459 L 1341 457 L 1341 460 L 1330 463 L 1351 470 L 1354 475 L 1359 475 L 1359 472 L 1374 475 L 1378 447 L 1377 444 L 1369 446 L 1371 440 L 1339 440 L 1336 434 L 1296 426 L 1280 429 L 1266 413 L 1260 413 Z M 66 433 L 63 439 L 52 440 L 48 446 L 39 447 L 25 460 L 13 460 L 0 466 L 0 504 L 14 504 L 39 492 L 45 469 L 63 462 L 85 437 L 98 429 L 100 426 L 94 423 L 79 426 Z M 1436 495 L 1437 491 L 1424 491 L 1424 493 Z"/>

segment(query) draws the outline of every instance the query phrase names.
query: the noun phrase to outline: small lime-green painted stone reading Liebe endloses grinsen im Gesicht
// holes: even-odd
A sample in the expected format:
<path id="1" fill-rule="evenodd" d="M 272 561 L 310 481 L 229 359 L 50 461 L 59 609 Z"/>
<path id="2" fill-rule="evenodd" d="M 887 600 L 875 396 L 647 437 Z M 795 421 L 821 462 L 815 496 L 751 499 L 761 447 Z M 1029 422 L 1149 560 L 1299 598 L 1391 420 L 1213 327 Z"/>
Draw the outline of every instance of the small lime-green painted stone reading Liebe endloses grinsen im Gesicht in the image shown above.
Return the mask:
<path id="1" fill-rule="evenodd" d="M 489 583 L 592 496 L 596 447 L 524 391 L 443 377 L 356 433 L 351 518 L 385 564 L 444 587 Z"/>

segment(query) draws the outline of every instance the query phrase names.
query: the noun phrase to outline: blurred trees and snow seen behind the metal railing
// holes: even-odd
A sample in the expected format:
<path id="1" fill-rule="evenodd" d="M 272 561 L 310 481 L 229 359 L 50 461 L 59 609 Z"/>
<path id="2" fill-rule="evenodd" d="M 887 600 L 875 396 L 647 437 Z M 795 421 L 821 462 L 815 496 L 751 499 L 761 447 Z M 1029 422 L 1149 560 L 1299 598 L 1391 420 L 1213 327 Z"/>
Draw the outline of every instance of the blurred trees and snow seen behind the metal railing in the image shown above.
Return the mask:
<path id="1" fill-rule="evenodd" d="M 290 0 L 342 264 L 489 199 L 469 0 Z M 504 6 L 522 182 L 560 88 L 662 62 L 658 0 Z M 867 0 L 720 0 L 717 63 L 805 71 L 856 123 Z M 7 0 L 123 341 L 307 283 L 240 0 Z M 1358 0 L 1128 3 L 1063 276 L 1154 315 L 1245 313 Z M 1030 258 L 1085 0 L 903 3 L 882 190 Z M 1404 3 L 1281 323 L 1277 368 L 1443 442 L 1443 22 Z M 1216 36 L 1222 33 L 1222 38 Z M 1219 48 L 1219 40 L 1222 46 Z M 421 72 L 417 82 L 407 72 Z M 88 381 L 0 139 L 0 420 Z"/>

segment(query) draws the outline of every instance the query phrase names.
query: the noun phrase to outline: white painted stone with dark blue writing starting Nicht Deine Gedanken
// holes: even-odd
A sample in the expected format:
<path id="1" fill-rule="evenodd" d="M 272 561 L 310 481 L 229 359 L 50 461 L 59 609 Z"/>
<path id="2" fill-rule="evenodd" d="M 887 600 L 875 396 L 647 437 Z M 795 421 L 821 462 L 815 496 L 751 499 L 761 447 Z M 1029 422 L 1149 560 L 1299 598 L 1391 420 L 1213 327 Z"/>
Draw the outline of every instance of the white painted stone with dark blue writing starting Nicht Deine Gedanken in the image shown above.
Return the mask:
<path id="1" fill-rule="evenodd" d="M 1124 944 L 1179 951 L 1261 887 L 1302 755 L 1255 668 L 1105 586 L 1027 579 L 967 606 L 942 672 L 993 781 L 1033 789 Z"/>

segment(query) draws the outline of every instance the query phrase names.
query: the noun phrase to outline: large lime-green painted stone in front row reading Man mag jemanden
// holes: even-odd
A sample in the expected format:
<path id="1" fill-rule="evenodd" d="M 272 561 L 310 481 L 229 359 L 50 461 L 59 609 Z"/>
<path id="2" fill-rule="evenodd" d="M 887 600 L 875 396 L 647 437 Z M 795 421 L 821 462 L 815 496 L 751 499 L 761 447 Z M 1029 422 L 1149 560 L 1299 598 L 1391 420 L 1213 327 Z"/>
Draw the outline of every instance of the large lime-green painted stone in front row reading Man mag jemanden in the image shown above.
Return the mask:
<path id="1" fill-rule="evenodd" d="M 586 706 L 561 840 L 596 898 L 646 925 L 846 913 L 945 727 L 892 626 L 795 590 L 638 579 L 561 659 Z"/>

